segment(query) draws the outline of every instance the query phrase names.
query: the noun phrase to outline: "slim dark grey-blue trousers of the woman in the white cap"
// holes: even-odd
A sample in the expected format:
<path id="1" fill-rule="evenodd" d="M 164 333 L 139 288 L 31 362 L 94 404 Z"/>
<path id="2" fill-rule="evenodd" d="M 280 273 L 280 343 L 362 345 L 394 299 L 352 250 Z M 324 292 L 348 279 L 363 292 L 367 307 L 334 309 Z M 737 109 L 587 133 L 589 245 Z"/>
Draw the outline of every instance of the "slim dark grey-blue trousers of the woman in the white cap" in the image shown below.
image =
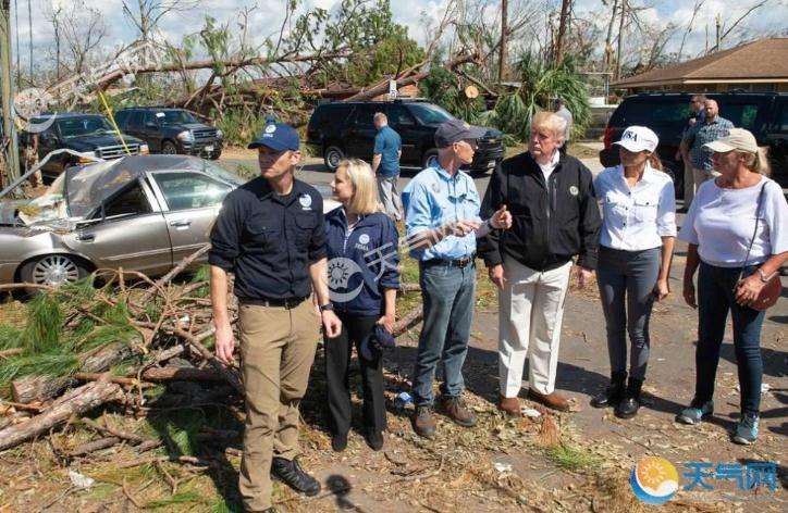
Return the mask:
<path id="1" fill-rule="evenodd" d="M 612 372 L 627 370 L 627 333 L 632 345 L 629 375 L 645 379 L 649 364 L 649 318 L 660 277 L 661 248 L 621 251 L 600 247 L 596 283 L 607 325 Z"/>

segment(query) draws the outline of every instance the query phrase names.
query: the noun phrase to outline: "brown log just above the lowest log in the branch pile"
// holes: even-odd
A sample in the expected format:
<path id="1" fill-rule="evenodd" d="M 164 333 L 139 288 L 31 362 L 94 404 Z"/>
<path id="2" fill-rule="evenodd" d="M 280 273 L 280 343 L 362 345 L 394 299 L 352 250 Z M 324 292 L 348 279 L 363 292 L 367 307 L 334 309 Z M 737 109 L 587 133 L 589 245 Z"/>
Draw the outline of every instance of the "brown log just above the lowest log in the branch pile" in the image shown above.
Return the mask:
<path id="1" fill-rule="evenodd" d="M 86 374 L 102 373 L 131 355 L 132 349 L 128 346 L 123 342 L 112 342 L 86 356 L 79 371 Z M 74 384 L 76 379 L 72 376 L 30 375 L 11 383 L 11 393 L 15 402 L 23 404 L 33 401 L 44 402 L 59 396 Z"/>

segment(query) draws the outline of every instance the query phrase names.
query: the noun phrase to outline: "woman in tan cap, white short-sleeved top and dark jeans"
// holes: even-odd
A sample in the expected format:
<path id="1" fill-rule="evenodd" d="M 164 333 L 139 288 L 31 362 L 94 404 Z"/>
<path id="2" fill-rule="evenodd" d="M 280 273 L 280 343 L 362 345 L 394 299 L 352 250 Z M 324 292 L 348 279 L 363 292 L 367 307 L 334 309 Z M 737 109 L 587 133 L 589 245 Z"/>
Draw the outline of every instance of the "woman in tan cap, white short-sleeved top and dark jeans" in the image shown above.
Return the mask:
<path id="1" fill-rule="evenodd" d="M 714 381 L 730 311 L 741 387 L 734 441 L 749 445 L 758 439 L 765 315 L 750 304 L 788 261 L 788 204 L 780 186 L 766 177 L 765 151 L 748 130 L 734 128 L 706 148 L 721 175 L 698 189 L 678 234 L 689 245 L 684 299 L 698 309 L 698 346 L 694 398 L 676 420 L 694 425 L 714 412 Z"/>

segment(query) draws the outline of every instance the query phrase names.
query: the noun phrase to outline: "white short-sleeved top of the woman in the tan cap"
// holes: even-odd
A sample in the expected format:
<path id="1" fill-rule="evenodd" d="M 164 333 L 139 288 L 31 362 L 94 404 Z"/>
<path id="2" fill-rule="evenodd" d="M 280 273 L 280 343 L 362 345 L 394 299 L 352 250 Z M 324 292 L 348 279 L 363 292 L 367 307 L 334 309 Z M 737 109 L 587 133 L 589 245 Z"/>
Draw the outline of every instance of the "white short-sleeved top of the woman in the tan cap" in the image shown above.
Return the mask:
<path id="1" fill-rule="evenodd" d="M 761 187 L 765 189 L 756 214 Z M 753 234 L 755 239 L 748 263 L 760 264 L 773 254 L 788 251 L 788 204 L 780 186 L 766 177 L 743 189 L 724 189 L 716 180 L 704 182 L 695 192 L 678 237 L 697 245 L 703 262 L 717 267 L 739 267 L 744 264 Z"/>

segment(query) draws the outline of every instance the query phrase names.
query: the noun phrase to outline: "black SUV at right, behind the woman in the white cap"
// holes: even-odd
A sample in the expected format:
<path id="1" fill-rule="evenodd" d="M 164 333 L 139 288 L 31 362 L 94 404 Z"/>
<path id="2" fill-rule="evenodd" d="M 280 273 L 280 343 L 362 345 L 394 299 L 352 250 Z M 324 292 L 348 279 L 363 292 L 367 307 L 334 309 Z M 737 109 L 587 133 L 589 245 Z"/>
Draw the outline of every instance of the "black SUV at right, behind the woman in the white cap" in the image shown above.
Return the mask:
<path id="1" fill-rule="evenodd" d="M 690 92 L 643 92 L 624 99 L 605 129 L 605 148 L 600 152 L 603 166 L 618 165 L 614 141 L 630 125 L 648 126 L 660 136 L 657 152 L 674 177 L 676 196 L 684 197 L 684 164 L 676 160 L 678 146 L 690 110 Z M 768 147 L 772 178 L 788 186 L 788 95 L 777 92 L 706 93 L 719 104 L 719 115 L 734 126 L 752 132 L 760 146 Z"/>

